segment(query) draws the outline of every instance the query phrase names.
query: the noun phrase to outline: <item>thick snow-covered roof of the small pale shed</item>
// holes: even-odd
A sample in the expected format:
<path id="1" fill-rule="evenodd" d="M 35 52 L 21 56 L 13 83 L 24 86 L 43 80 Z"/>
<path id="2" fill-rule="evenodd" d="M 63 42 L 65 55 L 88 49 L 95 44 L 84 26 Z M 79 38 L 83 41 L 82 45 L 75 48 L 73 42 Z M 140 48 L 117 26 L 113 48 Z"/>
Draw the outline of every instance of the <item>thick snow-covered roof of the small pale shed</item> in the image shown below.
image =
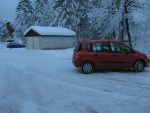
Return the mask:
<path id="1" fill-rule="evenodd" d="M 47 26 L 31 26 L 28 28 L 24 36 L 27 35 L 27 33 L 33 30 L 39 35 L 44 35 L 44 36 L 75 36 L 76 33 L 68 28 L 65 27 L 47 27 Z"/>

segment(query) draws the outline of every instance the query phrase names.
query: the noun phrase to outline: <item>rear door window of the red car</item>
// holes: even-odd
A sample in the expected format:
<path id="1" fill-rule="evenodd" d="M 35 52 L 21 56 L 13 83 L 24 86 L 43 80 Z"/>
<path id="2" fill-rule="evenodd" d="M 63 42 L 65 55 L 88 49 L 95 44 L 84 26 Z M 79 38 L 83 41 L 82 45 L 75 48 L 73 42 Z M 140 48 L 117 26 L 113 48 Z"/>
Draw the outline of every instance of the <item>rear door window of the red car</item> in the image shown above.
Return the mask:
<path id="1" fill-rule="evenodd" d="M 96 42 L 93 44 L 94 52 L 110 52 L 111 47 L 109 42 Z"/>

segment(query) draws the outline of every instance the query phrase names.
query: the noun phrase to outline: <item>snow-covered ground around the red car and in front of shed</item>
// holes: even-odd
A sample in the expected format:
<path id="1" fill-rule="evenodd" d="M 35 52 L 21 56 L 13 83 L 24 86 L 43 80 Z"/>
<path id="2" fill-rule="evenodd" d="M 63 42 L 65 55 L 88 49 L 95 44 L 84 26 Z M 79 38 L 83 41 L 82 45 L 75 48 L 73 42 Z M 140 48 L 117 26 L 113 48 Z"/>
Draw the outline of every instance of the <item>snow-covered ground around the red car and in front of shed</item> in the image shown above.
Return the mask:
<path id="1" fill-rule="evenodd" d="M 72 49 L 0 45 L 0 113 L 150 113 L 150 69 L 80 73 Z"/>

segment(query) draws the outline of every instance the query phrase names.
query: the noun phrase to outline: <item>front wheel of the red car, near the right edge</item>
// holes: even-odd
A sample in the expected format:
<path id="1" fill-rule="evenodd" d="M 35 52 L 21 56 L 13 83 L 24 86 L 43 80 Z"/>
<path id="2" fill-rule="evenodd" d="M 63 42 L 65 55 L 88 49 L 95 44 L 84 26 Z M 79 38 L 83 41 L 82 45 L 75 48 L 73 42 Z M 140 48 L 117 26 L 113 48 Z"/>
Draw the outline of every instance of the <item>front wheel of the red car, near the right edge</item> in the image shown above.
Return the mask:
<path id="1" fill-rule="evenodd" d="M 144 62 L 141 60 L 138 60 L 134 64 L 134 71 L 135 72 L 142 72 L 144 70 Z"/>

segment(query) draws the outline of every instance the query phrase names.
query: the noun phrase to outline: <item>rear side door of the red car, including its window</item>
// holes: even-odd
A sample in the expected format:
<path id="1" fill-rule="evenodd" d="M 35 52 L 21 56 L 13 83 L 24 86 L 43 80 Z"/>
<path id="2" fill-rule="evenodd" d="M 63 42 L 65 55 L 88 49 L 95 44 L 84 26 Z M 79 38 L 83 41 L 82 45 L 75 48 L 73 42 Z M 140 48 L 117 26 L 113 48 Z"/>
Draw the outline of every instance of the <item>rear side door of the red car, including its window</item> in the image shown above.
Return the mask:
<path id="1" fill-rule="evenodd" d="M 110 69 L 112 67 L 112 51 L 109 42 L 96 42 L 93 44 L 93 60 L 97 69 Z"/>

